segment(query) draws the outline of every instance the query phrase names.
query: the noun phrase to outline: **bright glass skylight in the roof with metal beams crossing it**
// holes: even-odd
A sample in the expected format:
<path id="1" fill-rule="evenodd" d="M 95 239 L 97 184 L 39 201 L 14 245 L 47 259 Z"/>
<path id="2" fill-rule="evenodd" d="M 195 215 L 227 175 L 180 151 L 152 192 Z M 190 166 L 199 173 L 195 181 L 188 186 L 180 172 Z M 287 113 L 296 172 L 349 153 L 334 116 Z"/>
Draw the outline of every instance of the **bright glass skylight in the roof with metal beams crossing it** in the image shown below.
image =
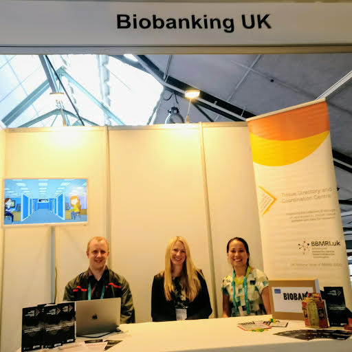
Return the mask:
<path id="1" fill-rule="evenodd" d="M 146 124 L 162 92 L 150 74 L 111 56 L 50 55 L 85 124 Z M 63 91 L 55 79 L 58 91 Z M 0 120 L 10 128 L 62 126 L 60 106 L 37 55 L 0 55 Z M 80 125 L 68 98 L 68 125 Z"/>

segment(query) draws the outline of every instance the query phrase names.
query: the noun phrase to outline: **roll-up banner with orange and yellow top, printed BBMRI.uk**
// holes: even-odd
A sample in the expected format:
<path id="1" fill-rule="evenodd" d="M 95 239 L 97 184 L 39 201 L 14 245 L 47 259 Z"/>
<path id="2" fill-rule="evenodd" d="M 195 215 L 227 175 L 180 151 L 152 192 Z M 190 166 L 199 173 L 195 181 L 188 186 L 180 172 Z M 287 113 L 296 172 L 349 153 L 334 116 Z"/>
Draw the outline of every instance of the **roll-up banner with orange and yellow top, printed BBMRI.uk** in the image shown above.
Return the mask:
<path id="1" fill-rule="evenodd" d="M 267 276 L 351 282 L 324 99 L 250 118 L 248 127 Z"/>

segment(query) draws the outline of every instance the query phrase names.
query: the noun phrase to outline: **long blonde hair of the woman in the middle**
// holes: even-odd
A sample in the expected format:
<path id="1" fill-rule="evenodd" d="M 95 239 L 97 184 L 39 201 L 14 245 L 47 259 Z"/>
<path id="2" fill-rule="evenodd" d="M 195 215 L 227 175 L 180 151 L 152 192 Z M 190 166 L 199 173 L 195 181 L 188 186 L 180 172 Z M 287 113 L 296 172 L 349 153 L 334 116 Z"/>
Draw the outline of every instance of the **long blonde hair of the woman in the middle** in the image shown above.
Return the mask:
<path id="1" fill-rule="evenodd" d="M 190 302 L 197 297 L 199 290 L 201 289 L 201 283 L 197 273 L 201 274 L 200 270 L 193 264 L 192 258 L 190 256 L 190 248 L 187 241 L 181 236 L 175 236 L 168 242 L 166 246 L 165 253 L 165 270 L 164 270 L 164 293 L 166 300 L 171 300 L 171 293 L 175 292 L 175 287 L 173 285 L 173 274 L 171 266 L 171 250 L 177 241 L 183 243 L 186 250 L 186 259 L 184 261 L 184 266 L 181 272 L 181 287 L 186 289 L 186 297 Z M 201 274 L 202 275 L 202 274 Z M 203 275 L 202 275 L 203 276 Z"/>

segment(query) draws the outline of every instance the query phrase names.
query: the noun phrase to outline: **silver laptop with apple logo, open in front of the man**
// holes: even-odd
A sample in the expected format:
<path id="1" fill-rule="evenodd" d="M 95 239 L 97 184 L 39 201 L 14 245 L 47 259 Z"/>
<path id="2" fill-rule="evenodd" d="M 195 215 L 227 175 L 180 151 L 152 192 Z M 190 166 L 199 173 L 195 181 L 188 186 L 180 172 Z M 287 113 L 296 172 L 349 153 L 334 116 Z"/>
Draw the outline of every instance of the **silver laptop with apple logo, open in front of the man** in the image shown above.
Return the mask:
<path id="1" fill-rule="evenodd" d="M 116 331 L 121 298 L 76 301 L 76 336 Z"/>

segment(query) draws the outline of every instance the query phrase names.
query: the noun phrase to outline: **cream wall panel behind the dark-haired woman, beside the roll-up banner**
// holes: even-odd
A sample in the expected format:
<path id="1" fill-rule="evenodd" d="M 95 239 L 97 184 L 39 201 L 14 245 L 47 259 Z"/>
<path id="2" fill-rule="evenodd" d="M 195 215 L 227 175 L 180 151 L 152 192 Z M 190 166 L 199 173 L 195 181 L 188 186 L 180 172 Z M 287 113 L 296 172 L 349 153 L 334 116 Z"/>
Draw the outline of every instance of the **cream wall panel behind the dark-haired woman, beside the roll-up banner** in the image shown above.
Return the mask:
<path id="1" fill-rule="evenodd" d="M 203 140 L 217 306 L 221 316 L 221 283 L 232 272 L 226 244 L 232 237 L 243 237 L 248 241 L 251 264 L 263 270 L 261 234 L 247 124 L 203 124 Z"/>

